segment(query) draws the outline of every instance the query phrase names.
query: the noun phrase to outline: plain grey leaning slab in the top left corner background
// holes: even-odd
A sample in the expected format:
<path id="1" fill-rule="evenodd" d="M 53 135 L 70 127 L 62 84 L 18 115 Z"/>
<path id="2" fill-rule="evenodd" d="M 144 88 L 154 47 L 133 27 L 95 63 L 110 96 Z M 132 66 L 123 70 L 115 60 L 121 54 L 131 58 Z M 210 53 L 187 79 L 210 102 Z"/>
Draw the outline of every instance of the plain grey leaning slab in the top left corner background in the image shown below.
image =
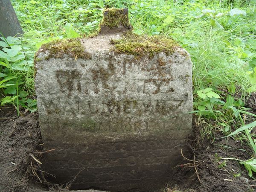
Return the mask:
<path id="1" fill-rule="evenodd" d="M 0 0 L 0 32 L 4 37 L 23 34 L 10 0 Z"/>

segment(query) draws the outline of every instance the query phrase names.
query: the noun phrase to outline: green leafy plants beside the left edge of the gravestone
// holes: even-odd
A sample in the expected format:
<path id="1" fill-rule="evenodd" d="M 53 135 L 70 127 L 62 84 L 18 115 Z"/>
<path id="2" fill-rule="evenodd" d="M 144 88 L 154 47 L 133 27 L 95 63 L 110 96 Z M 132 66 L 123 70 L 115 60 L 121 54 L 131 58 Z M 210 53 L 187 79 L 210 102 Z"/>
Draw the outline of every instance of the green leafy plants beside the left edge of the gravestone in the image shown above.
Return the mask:
<path id="1" fill-rule="evenodd" d="M 27 47 L 23 47 L 22 42 L 18 38 L 7 37 L 1 38 L 3 42 L 2 50 L 0 50 L 0 92 L 3 98 L 0 99 L 1 105 L 11 103 L 20 114 L 19 106 L 35 111 L 36 101 L 30 99 L 32 87 L 24 79 L 29 77 L 29 73 L 33 73 L 33 52 Z M 30 101 L 33 100 L 34 102 Z M 33 104 L 32 104 L 33 103 Z"/>

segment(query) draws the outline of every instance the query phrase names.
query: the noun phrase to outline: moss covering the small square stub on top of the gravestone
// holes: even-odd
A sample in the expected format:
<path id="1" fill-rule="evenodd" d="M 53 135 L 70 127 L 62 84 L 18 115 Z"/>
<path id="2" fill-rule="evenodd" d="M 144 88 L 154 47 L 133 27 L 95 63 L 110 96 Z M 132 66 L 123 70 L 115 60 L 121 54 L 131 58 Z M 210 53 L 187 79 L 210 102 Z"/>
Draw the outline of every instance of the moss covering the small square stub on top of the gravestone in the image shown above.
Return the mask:
<path id="1" fill-rule="evenodd" d="M 128 13 L 125 13 L 127 9 L 105 9 L 103 11 L 103 19 L 100 23 L 101 26 L 107 26 L 110 29 L 114 27 L 118 27 L 120 25 L 131 28 L 131 24 L 129 23 Z M 128 11 L 128 10 L 127 10 Z"/>

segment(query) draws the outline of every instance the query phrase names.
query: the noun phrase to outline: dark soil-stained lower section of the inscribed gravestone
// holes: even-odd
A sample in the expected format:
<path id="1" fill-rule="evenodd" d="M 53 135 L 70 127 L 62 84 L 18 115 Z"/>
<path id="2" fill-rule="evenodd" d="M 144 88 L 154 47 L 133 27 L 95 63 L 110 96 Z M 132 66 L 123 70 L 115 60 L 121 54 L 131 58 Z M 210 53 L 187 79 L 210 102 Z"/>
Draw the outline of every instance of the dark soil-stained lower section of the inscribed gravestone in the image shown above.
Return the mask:
<path id="1" fill-rule="evenodd" d="M 180 149 L 186 151 L 184 141 L 148 136 L 63 144 L 45 154 L 42 162 L 44 170 L 56 176 L 49 177 L 53 183 L 66 183 L 77 175 L 73 190 L 145 192 L 160 189 L 172 180 L 172 168 L 182 159 Z"/>

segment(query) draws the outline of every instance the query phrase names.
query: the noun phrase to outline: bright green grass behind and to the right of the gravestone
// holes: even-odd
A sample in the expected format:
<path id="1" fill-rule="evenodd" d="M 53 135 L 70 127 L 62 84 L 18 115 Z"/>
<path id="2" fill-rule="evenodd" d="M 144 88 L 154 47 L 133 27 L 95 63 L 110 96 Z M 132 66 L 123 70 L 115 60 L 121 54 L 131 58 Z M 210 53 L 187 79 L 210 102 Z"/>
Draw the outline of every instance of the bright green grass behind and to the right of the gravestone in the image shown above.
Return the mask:
<path id="1" fill-rule="evenodd" d="M 233 82 L 237 86 L 236 92 L 246 96 L 246 89 L 250 86 L 246 72 L 256 65 L 256 47 L 251 47 L 256 44 L 256 29 L 252 24 L 256 18 L 253 2 L 235 0 L 228 5 L 227 1 L 217 0 L 177 2 L 180 3 L 173 0 L 110 0 L 104 2 L 104 7 L 128 7 L 134 32 L 172 36 L 186 48 L 194 64 L 194 90 L 209 86 L 227 89 Z M 98 0 L 67 0 L 65 3 L 62 0 L 17 0 L 13 5 L 25 31 L 24 41 L 29 42 L 34 50 L 48 38 L 66 37 L 66 23 L 72 23 L 76 32 L 89 35 L 97 30 L 102 19 Z M 228 13 L 234 8 L 244 10 L 247 15 L 230 17 Z M 203 15 L 204 9 L 215 13 L 206 11 Z M 218 13 L 224 15 L 215 17 Z"/>

